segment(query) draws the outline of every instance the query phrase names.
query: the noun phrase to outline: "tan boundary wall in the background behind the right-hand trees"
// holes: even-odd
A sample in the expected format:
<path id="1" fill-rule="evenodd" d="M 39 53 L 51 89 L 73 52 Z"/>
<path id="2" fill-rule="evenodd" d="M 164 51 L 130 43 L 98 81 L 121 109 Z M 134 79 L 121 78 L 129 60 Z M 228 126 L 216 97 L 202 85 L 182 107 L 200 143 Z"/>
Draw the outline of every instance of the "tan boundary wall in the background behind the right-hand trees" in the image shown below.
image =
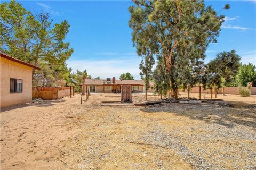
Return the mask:
<path id="1" fill-rule="evenodd" d="M 199 93 L 199 87 L 193 87 L 190 92 Z M 224 88 L 225 94 L 235 94 L 239 95 L 238 87 L 225 87 Z M 204 90 L 202 88 L 202 93 L 210 93 L 210 90 Z M 218 94 L 222 94 L 222 88 L 218 90 Z M 251 87 L 251 95 L 256 95 L 256 87 Z"/>

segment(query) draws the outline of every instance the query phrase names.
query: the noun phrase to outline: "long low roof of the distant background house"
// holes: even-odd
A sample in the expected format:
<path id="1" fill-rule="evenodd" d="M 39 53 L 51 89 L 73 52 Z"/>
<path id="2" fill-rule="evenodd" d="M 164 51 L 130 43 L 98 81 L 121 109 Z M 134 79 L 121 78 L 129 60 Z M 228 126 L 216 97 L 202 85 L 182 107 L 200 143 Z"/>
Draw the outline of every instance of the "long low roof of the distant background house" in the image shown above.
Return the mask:
<path id="1" fill-rule="evenodd" d="M 103 83 L 105 82 L 105 83 Z M 150 86 L 154 86 L 154 82 L 150 81 Z M 83 85 L 83 83 L 79 84 Z M 99 86 L 99 85 L 137 85 L 137 86 L 145 86 L 145 83 L 143 80 L 116 80 L 116 83 L 113 84 L 112 79 L 111 83 L 107 83 L 106 79 L 86 79 L 85 80 L 85 85 L 94 85 L 94 86 Z"/>

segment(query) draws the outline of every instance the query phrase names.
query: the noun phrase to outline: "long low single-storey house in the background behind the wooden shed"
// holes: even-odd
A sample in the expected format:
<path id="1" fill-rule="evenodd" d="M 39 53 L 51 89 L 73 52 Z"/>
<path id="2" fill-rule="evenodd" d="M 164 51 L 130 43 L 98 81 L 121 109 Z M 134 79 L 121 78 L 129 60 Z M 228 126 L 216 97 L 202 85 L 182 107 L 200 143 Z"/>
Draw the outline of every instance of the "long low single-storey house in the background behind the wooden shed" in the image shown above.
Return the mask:
<path id="1" fill-rule="evenodd" d="M 83 87 L 83 83 L 79 84 Z M 120 92 L 121 85 L 131 85 L 132 92 L 145 92 L 143 80 L 116 80 L 115 77 L 107 79 L 86 79 L 85 86 L 90 92 Z M 148 92 L 154 92 L 154 82 L 150 81 Z"/>

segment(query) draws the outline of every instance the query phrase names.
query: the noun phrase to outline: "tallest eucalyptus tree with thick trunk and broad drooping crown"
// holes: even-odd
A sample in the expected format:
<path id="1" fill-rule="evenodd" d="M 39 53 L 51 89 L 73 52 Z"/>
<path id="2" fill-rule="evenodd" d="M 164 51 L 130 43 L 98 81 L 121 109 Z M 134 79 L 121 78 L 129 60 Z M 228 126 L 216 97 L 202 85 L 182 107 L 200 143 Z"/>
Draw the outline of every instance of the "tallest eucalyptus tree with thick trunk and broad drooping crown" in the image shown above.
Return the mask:
<path id="1" fill-rule="evenodd" d="M 132 41 L 139 56 L 162 56 L 170 75 L 172 97 L 177 98 L 179 74 L 196 60 L 204 60 L 209 43 L 217 42 L 224 16 L 204 1 L 133 1 L 129 7 Z M 225 9 L 229 5 L 225 5 Z"/>

